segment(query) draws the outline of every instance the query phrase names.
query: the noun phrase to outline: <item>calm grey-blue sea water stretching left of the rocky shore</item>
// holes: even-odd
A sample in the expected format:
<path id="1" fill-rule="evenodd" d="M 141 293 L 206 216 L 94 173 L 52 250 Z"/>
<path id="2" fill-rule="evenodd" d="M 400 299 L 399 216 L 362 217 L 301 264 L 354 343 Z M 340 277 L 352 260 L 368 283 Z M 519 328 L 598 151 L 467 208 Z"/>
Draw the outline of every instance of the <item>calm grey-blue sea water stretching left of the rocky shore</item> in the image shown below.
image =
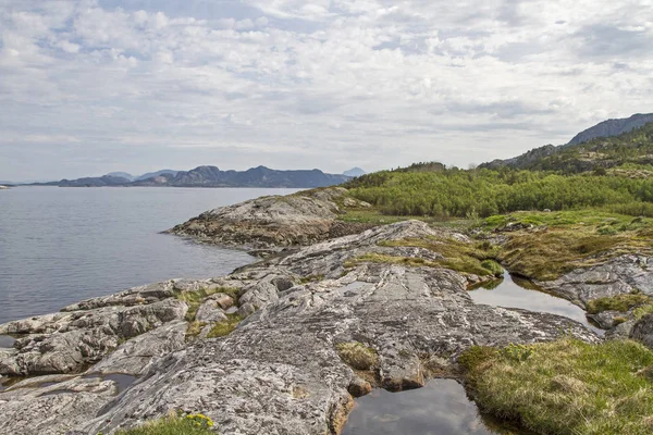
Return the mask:
<path id="1" fill-rule="evenodd" d="M 297 189 L 58 188 L 0 191 L 0 323 L 174 277 L 211 277 L 245 252 L 159 234 L 202 211 Z"/>

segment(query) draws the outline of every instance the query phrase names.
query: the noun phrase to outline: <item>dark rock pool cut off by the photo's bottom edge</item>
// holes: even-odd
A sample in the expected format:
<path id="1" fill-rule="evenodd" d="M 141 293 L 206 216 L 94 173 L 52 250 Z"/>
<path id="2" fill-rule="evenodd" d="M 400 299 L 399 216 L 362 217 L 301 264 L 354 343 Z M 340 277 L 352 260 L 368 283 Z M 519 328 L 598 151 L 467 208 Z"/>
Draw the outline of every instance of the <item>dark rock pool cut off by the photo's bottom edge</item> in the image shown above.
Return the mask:
<path id="1" fill-rule="evenodd" d="M 433 380 L 424 387 L 390 393 L 375 388 L 356 399 L 342 435 L 523 434 L 481 417 L 465 388 L 454 380 Z"/>

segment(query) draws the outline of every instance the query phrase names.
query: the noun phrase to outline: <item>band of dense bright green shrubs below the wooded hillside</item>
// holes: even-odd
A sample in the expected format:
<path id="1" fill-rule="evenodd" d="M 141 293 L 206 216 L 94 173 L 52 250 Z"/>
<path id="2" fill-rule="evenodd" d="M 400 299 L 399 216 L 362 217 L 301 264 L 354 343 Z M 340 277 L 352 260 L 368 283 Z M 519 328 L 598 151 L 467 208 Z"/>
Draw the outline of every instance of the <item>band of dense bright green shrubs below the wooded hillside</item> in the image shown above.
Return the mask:
<path id="1" fill-rule="evenodd" d="M 621 207 L 645 215 L 653 207 L 653 179 L 552 172 L 443 170 L 436 172 L 382 171 L 346 185 L 353 197 L 384 214 L 466 217 L 490 216 L 517 210 L 567 210 Z M 644 204 L 643 207 L 641 207 Z"/>

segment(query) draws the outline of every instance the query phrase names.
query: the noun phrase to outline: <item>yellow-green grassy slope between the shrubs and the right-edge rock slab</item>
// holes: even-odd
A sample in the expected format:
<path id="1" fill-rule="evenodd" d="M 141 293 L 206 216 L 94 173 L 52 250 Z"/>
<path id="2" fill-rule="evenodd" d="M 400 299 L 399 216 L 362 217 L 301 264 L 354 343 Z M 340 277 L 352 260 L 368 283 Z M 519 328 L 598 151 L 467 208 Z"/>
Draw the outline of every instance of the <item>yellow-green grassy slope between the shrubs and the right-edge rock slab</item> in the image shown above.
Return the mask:
<path id="1" fill-rule="evenodd" d="M 653 220 L 596 210 L 518 212 L 491 216 L 485 228 L 508 222 L 540 226 L 508 233 L 497 259 L 512 272 L 549 281 L 623 253 L 652 252 Z"/>

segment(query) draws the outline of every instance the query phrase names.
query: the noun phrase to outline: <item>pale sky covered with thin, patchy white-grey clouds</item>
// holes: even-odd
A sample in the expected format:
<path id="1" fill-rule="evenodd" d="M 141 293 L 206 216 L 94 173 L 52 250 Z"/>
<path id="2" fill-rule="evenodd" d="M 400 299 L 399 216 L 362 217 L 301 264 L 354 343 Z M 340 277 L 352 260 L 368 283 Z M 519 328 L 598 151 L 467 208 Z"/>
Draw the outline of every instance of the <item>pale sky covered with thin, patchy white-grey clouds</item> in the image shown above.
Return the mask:
<path id="1" fill-rule="evenodd" d="M 509 158 L 653 112 L 653 0 L 0 0 L 0 179 Z"/>

